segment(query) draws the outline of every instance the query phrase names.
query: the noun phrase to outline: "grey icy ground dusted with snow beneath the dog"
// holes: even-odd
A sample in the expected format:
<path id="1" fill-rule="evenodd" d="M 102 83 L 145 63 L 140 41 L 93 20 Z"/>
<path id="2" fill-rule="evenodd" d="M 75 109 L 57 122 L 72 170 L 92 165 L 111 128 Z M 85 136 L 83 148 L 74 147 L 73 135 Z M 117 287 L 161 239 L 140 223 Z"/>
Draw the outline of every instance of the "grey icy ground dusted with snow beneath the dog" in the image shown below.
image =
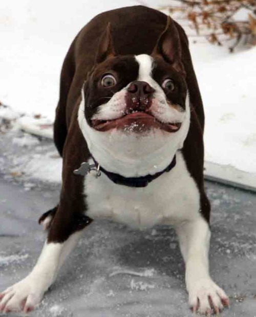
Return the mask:
<path id="1" fill-rule="evenodd" d="M 58 200 L 57 177 L 52 179 L 56 182 L 38 181 L 28 162 L 34 156 L 34 163 L 45 166 L 40 172 L 48 173 L 46 179 L 49 169 L 56 169 L 54 162 L 58 168 L 61 165 L 51 141 L 20 131 L 2 133 L 0 148 L 2 290 L 24 278 L 35 264 L 46 237 L 38 217 Z M 206 187 L 212 205 L 211 274 L 231 300 L 230 309 L 221 316 L 255 317 L 256 195 L 213 183 Z M 108 221 L 92 223 L 30 315 L 191 316 L 174 231 L 156 227 L 142 232 Z"/>

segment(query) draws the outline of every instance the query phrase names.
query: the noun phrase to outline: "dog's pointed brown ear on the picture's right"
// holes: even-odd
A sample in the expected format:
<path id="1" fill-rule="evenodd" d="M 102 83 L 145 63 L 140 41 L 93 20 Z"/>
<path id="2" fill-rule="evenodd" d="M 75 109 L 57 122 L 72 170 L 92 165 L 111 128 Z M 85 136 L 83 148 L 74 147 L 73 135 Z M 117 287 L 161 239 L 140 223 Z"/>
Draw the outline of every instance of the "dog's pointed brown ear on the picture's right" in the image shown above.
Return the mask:
<path id="1" fill-rule="evenodd" d="M 179 72 L 184 72 L 181 62 L 181 43 L 179 32 L 170 16 L 167 16 L 165 29 L 158 37 L 156 46 L 151 54 L 162 57 Z"/>

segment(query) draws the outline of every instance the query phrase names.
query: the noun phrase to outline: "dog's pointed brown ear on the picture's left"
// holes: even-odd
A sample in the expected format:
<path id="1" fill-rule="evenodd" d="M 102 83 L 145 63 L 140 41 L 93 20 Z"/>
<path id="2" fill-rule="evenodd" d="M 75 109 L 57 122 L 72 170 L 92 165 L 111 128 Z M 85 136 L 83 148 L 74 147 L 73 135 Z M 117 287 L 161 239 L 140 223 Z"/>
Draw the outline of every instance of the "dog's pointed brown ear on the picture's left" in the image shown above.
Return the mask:
<path id="1" fill-rule="evenodd" d="M 99 41 L 98 51 L 95 58 L 95 64 L 102 63 L 106 58 L 115 56 L 113 41 L 110 31 L 110 22 L 106 26 L 105 31 L 102 33 Z"/>

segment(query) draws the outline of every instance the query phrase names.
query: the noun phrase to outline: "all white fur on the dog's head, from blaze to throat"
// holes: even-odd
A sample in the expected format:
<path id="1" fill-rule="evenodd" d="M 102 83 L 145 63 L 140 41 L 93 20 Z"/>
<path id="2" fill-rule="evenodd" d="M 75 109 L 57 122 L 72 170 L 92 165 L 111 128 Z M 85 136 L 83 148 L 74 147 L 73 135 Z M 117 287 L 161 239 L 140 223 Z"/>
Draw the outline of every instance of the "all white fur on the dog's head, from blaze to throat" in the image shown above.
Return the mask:
<path id="1" fill-rule="evenodd" d="M 169 106 L 162 88 L 151 76 L 152 57 L 143 54 L 135 56 L 135 58 L 139 63 L 139 73 L 136 80 L 145 81 L 155 89 L 151 109 L 153 115 L 159 121 L 182 122 L 182 125 L 174 133 L 161 129 L 151 129 L 142 133 L 127 133 L 127 131 L 120 129 L 97 131 L 88 124 L 84 117 L 86 109 L 84 109 L 84 92 L 82 90 L 78 123 L 89 150 L 104 169 L 125 177 L 155 174 L 166 168 L 173 160 L 176 151 L 183 147 L 190 121 L 188 94 L 185 111 L 180 112 Z M 125 94 L 129 85 L 114 94 L 108 103 L 99 106 L 97 113 L 92 118 L 113 120 L 123 116 L 126 110 Z"/>

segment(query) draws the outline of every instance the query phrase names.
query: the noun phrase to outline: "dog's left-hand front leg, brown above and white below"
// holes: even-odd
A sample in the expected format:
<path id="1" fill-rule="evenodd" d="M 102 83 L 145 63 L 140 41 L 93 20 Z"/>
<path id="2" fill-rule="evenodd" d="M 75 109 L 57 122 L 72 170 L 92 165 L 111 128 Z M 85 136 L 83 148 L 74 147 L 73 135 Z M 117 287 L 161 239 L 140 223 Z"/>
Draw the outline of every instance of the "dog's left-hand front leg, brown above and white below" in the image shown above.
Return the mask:
<path id="1" fill-rule="evenodd" d="M 79 106 L 77 104 L 77 106 Z M 63 155 L 62 190 L 56 211 L 43 219 L 50 227 L 47 242 L 32 272 L 22 281 L 0 293 L 0 311 L 25 312 L 39 304 L 53 283 L 58 269 L 78 241 L 81 230 L 92 220 L 84 214 L 83 177 L 73 171 L 88 159 L 88 149 L 74 115 Z M 77 142 L 77 143 L 76 143 Z M 79 144 L 79 147 L 74 147 Z M 86 153 L 87 156 L 84 156 Z"/>

